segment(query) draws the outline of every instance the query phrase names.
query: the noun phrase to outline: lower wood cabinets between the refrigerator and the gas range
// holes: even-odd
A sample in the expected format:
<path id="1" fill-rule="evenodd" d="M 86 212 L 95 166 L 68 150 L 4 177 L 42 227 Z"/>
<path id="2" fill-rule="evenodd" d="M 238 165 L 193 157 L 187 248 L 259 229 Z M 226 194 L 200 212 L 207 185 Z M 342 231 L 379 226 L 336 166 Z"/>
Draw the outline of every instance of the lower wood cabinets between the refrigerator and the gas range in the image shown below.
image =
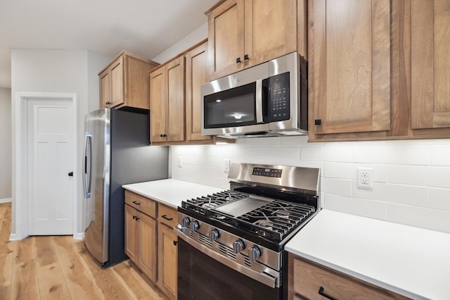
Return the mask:
<path id="1" fill-rule="evenodd" d="M 176 214 L 174 208 L 125 191 L 125 253 L 169 299 L 176 299 Z"/>

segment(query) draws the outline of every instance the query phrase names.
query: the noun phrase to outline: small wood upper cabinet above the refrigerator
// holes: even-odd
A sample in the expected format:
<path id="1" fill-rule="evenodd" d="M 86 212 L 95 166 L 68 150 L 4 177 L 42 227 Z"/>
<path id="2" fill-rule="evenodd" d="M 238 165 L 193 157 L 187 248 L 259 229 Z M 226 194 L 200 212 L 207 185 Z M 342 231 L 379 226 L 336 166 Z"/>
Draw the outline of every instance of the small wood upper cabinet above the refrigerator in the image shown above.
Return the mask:
<path id="1" fill-rule="evenodd" d="M 148 72 L 158 63 L 122 51 L 98 74 L 100 107 L 149 108 Z"/>

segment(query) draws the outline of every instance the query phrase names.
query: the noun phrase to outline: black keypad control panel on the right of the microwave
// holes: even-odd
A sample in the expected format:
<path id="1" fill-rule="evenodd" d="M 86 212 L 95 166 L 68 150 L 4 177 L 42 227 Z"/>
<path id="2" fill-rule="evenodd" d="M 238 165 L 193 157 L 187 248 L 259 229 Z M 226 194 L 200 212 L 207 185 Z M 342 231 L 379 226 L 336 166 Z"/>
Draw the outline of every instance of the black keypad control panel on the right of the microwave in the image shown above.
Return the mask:
<path id="1" fill-rule="evenodd" d="M 269 77 L 269 122 L 289 120 L 289 73 Z"/>

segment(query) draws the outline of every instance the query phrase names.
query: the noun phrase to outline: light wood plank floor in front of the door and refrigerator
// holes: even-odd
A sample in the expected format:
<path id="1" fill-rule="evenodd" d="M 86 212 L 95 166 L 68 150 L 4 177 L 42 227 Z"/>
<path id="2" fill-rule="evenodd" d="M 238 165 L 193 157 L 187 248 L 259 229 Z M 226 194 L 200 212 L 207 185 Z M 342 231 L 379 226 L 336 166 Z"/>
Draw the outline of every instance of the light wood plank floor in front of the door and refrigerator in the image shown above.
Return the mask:
<path id="1" fill-rule="evenodd" d="M 0 204 L 0 300 L 167 299 L 129 260 L 101 268 L 72 236 L 10 235 L 11 204 Z"/>

